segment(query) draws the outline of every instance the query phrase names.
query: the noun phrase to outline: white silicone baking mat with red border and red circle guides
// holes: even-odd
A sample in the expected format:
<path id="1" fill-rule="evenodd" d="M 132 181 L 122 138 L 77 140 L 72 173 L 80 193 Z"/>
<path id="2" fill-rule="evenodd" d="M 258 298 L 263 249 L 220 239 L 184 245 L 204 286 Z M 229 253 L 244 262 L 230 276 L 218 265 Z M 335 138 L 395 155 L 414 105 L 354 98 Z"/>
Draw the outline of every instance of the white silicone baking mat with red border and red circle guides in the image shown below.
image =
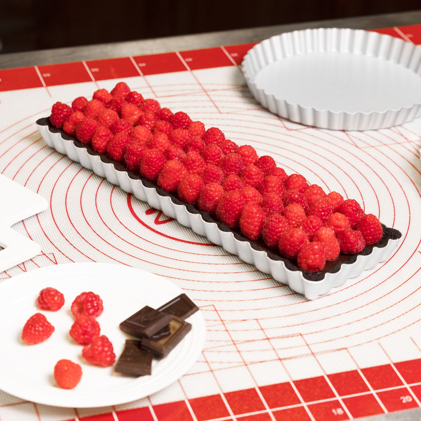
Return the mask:
<path id="1" fill-rule="evenodd" d="M 421 25 L 379 32 L 421 44 Z M 1 421 L 329 421 L 421 406 L 421 120 L 368 132 L 281 120 L 245 87 L 251 46 L 0 70 L 0 170 L 51 205 L 14 226 L 40 255 L 0 278 L 72 261 L 135 266 L 183 288 L 207 324 L 200 360 L 147 399 L 64 409 L 0 392 Z M 44 144 L 35 121 L 54 102 L 119 80 L 356 198 L 402 242 L 389 261 L 306 301 Z"/>

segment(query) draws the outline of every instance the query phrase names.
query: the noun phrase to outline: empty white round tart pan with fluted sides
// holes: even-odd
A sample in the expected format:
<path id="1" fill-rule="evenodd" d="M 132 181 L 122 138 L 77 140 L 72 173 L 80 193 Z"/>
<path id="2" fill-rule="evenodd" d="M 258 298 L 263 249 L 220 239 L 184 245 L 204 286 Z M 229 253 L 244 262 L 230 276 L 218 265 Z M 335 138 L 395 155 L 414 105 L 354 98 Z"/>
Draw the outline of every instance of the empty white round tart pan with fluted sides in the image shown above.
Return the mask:
<path id="1" fill-rule="evenodd" d="M 275 35 L 242 62 L 258 102 L 296 123 L 376 130 L 421 115 L 421 48 L 361 29 Z"/>

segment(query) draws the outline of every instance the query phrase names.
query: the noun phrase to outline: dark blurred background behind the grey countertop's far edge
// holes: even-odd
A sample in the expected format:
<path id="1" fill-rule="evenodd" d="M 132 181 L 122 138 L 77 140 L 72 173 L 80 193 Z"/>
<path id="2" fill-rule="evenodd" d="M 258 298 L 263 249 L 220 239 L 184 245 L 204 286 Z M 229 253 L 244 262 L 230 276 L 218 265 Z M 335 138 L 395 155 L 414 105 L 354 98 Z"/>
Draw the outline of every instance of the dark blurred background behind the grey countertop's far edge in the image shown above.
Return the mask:
<path id="1" fill-rule="evenodd" d="M 420 8 L 420 0 L 0 0 L 3 53 Z"/>

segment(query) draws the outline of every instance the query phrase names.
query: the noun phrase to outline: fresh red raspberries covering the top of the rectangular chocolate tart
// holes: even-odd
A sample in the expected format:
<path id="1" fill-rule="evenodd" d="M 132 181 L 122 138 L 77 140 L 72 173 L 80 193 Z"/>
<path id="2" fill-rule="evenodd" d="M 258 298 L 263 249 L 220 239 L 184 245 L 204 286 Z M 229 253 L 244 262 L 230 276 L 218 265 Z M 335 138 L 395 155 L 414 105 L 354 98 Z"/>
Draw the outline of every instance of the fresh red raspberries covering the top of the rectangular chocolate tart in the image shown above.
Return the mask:
<path id="1" fill-rule="evenodd" d="M 184 112 L 161 108 L 124 82 L 110 93 L 95 91 L 91 101 L 78 97 L 72 107 L 57 102 L 50 121 L 309 272 L 383 235 L 376 216 L 364 215 L 357 201 L 326 194 L 300 174 L 288 176 L 272 157 L 238 146 L 216 127 L 206 130 Z"/>

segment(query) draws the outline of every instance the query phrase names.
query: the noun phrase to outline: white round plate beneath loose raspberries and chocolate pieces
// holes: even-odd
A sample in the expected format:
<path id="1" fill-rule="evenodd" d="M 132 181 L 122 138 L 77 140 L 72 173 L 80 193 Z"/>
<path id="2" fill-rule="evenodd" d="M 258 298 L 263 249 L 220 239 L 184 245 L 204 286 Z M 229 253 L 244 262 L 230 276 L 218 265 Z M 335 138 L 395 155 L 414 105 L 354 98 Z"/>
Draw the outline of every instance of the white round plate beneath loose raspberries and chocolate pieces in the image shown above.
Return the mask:
<path id="1" fill-rule="evenodd" d="M 37 309 L 40 290 L 51 286 L 64 294 L 58 312 Z M 129 336 L 119 324 L 145 305 L 157 308 L 183 291 L 155 274 L 128 266 L 101 263 L 71 263 L 36 269 L 0 284 L 0 389 L 21 399 L 45 405 L 89 408 L 117 405 L 140 399 L 176 381 L 192 367 L 205 342 L 202 313 L 189 317 L 192 330 L 163 360 L 154 360 L 152 375 L 120 376 L 112 367 L 88 364 L 82 346 L 69 336 L 74 317 L 70 306 L 83 291 L 99 294 L 104 312 L 98 317 L 101 334 L 108 336 L 116 357 Z M 21 340 L 27 319 L 43 313 L 55 327 L 42 344 L 26 345 Z M 56 362 L 72 360 L 81 365 L 83 376 L 72 390 L 60 389 L 53 378 Z"/>

